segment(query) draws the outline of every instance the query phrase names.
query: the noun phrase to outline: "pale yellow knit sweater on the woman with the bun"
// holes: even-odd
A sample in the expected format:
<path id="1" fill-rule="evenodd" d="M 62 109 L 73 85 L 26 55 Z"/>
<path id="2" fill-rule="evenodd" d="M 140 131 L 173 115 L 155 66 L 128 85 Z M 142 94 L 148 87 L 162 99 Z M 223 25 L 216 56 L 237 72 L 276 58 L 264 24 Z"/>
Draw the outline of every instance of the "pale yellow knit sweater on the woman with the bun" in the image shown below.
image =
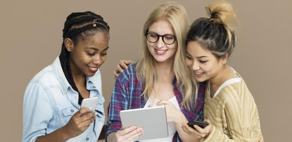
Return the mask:
<path id="1" fill-rule="evenodd" d="M 256 103 L 242 78 L 240 82 L 223 87 L 214 98 L 207 86 L 204 119 L 210 120 L 213 130 L 201 142 L 264 141 Z"/>

